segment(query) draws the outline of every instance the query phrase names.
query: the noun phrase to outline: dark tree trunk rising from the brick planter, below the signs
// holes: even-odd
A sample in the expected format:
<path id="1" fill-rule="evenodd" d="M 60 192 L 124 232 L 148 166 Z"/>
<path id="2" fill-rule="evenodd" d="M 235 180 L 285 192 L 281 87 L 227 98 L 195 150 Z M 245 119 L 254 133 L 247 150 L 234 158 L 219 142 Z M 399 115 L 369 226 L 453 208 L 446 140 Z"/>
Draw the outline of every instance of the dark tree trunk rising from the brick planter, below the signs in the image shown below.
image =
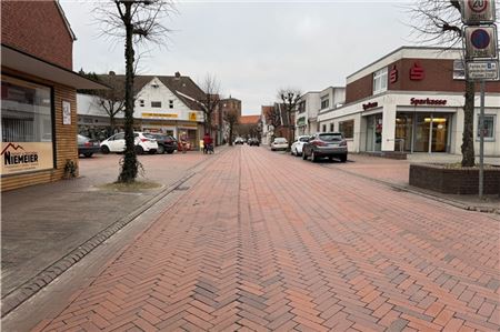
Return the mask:
<path id="1" fill-rule="evenodd" d="M 474 165 L 474 92 L 476 83 L 466 81 L 466 104 L 463 105 L 462 167 Z"/>

